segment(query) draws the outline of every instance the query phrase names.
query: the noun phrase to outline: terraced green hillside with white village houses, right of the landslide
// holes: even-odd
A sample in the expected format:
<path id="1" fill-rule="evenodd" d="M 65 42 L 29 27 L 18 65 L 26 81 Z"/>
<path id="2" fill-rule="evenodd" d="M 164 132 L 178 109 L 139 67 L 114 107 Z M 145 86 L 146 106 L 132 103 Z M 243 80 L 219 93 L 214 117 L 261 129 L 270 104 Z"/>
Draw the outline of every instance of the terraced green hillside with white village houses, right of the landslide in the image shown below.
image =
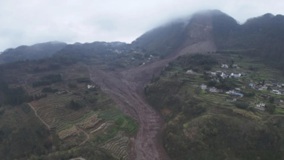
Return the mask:
<path id="1" fill-rule="evenodd" d="M 283 159 L 280 73 L 260 58 L 210 53 L 182 55 L 153 75 L 145 94 L 165 119 L 170 158 Z"/>

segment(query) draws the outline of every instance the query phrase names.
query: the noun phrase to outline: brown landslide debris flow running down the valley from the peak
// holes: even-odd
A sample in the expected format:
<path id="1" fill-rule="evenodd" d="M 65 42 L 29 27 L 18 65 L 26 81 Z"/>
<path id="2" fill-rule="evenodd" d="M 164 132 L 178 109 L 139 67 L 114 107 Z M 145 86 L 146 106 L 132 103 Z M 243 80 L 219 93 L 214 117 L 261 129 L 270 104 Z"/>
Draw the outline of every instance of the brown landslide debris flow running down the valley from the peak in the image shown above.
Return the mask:
<path id="1" fill-rule="evenodd" d="M 204 28 L 204 26 L 202 27 Z M 203 29 L 202 31 L 204 35 L 210 35 L 207 33 L 208 31 Z M 111 96 L 122 112 L 136 119 L 139 124 L 138 133 L 131 140 L 129 159 L 170 159 L 162 144 L 163 119 L 146 101 L 143 92 L 144 86 L 150 82 L 153 74 L 160 73 L 160 70 L 163 70 L 170 60 L 179 55 L 215 51 L 216 48 L 211 36 L 204 37 L 204 35 L 199 41 L 196 38 L 194 41 L 190 41 L 191 35 L 189 35 L 187 41 L 176 53 L 163 60 L 146 63 L 141 67 L 116 71 L 100 70 L 97 67 L 89 68 L 91 80 Z"/>

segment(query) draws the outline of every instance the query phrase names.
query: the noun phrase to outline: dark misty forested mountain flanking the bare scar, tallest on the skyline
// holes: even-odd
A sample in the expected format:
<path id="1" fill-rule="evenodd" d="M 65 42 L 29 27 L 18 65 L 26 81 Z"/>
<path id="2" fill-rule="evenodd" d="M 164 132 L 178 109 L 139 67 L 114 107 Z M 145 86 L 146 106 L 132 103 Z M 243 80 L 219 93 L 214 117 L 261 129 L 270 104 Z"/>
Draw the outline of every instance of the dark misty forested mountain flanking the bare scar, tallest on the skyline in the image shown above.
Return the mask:
<path id="1" fill-rule="evenodd" d="M 249 18 L 244 24 L 239 24 L 222 11 L 202 11 L 148 31 L 132 45 L 168 55 L 189 39 L 192 41 L 195 38 L 192 33 L 198 33 L 200 25 L 211 29 L 209 33 L 217 50 L 253 50 L 255 55 L 266 60 L 284 60 L 284 16 L 273 14 Z"/>

